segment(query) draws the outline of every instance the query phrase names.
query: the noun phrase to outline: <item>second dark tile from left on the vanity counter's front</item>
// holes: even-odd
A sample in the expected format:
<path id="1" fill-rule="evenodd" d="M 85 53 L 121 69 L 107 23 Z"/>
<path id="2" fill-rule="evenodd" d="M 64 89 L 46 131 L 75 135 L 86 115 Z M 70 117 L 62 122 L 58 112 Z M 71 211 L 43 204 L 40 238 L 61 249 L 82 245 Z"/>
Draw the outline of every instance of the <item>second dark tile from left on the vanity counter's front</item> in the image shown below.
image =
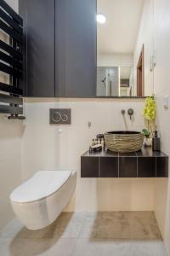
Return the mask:
<path id="1" fill-rule="evenodd" d="M 100 157 L 100 177 L 118 177 L 118 157 Z"/>

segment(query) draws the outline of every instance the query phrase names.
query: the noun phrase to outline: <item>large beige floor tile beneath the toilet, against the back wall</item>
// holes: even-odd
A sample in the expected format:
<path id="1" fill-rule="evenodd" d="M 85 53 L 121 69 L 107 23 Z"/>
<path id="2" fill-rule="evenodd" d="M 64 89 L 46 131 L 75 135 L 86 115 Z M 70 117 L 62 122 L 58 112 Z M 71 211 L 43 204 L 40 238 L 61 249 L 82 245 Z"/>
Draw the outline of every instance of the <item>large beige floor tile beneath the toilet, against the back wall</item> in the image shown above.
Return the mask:
<path id="1" fill-rule="evenodd" d="M 85 212 L 62 212 L 53 224 L 42 230 L 28 230 L 17 218 L 1 232 L 0 238 L 77 238 L 82 229 Z"/>

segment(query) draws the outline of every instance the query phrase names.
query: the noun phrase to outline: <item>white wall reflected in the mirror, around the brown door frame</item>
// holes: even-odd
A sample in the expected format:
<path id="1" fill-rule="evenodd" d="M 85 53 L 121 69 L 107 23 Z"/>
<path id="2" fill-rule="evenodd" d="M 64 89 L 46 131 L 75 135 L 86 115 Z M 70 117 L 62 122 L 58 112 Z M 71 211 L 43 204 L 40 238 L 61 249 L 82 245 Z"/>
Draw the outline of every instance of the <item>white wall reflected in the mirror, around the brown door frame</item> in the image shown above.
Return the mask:
<path id="1" fill-rule="evenodd" d="M 150 57 L 154 52 L 153 37 L 153 0 L 144 0 L 144 8 L 141 16 L 139 35 L 133 55 L 134 67 L 134 86 L 133 90 L 137 90 L 137 67 L 139 55 L 144 44 L 144 96 L 152 96 L 154 93 L 154 76 L 150 72 Z"/>

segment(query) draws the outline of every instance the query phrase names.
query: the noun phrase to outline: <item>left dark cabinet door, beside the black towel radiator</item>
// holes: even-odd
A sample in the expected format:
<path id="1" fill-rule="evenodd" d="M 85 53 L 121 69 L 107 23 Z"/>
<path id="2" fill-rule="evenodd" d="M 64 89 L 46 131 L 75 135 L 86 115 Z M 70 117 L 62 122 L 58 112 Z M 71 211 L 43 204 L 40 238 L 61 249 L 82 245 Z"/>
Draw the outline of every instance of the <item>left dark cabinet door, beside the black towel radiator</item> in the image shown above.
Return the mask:
<path id="1" fill-rule="evenodd" d="M 54 0 L 20 0 L 25 21 L 25 96 L 54 97 Z"/>

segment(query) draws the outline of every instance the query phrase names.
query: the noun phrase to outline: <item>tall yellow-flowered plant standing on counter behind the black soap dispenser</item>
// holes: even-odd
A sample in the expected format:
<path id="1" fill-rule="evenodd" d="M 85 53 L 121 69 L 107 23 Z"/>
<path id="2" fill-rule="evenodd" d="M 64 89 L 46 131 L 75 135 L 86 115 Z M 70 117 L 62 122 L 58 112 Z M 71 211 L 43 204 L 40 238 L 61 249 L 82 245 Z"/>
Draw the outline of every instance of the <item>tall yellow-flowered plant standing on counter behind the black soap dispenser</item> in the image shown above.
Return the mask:
<path id="1" fill-rule="evenodd" d="M 146 98 L 145 107 L 142 113 L 144 115 L 144 119 L 147 122 L 147 129 L 143 129 L 144 136 L 145 136 L 144 145 L 151 146 L 152 138 L 150 137 L 150 134 L 153 137 L 152 127 L 155 126 L 155 120 L 156 120 L 156 100 L 154 97 L 149 96 Z"/>

